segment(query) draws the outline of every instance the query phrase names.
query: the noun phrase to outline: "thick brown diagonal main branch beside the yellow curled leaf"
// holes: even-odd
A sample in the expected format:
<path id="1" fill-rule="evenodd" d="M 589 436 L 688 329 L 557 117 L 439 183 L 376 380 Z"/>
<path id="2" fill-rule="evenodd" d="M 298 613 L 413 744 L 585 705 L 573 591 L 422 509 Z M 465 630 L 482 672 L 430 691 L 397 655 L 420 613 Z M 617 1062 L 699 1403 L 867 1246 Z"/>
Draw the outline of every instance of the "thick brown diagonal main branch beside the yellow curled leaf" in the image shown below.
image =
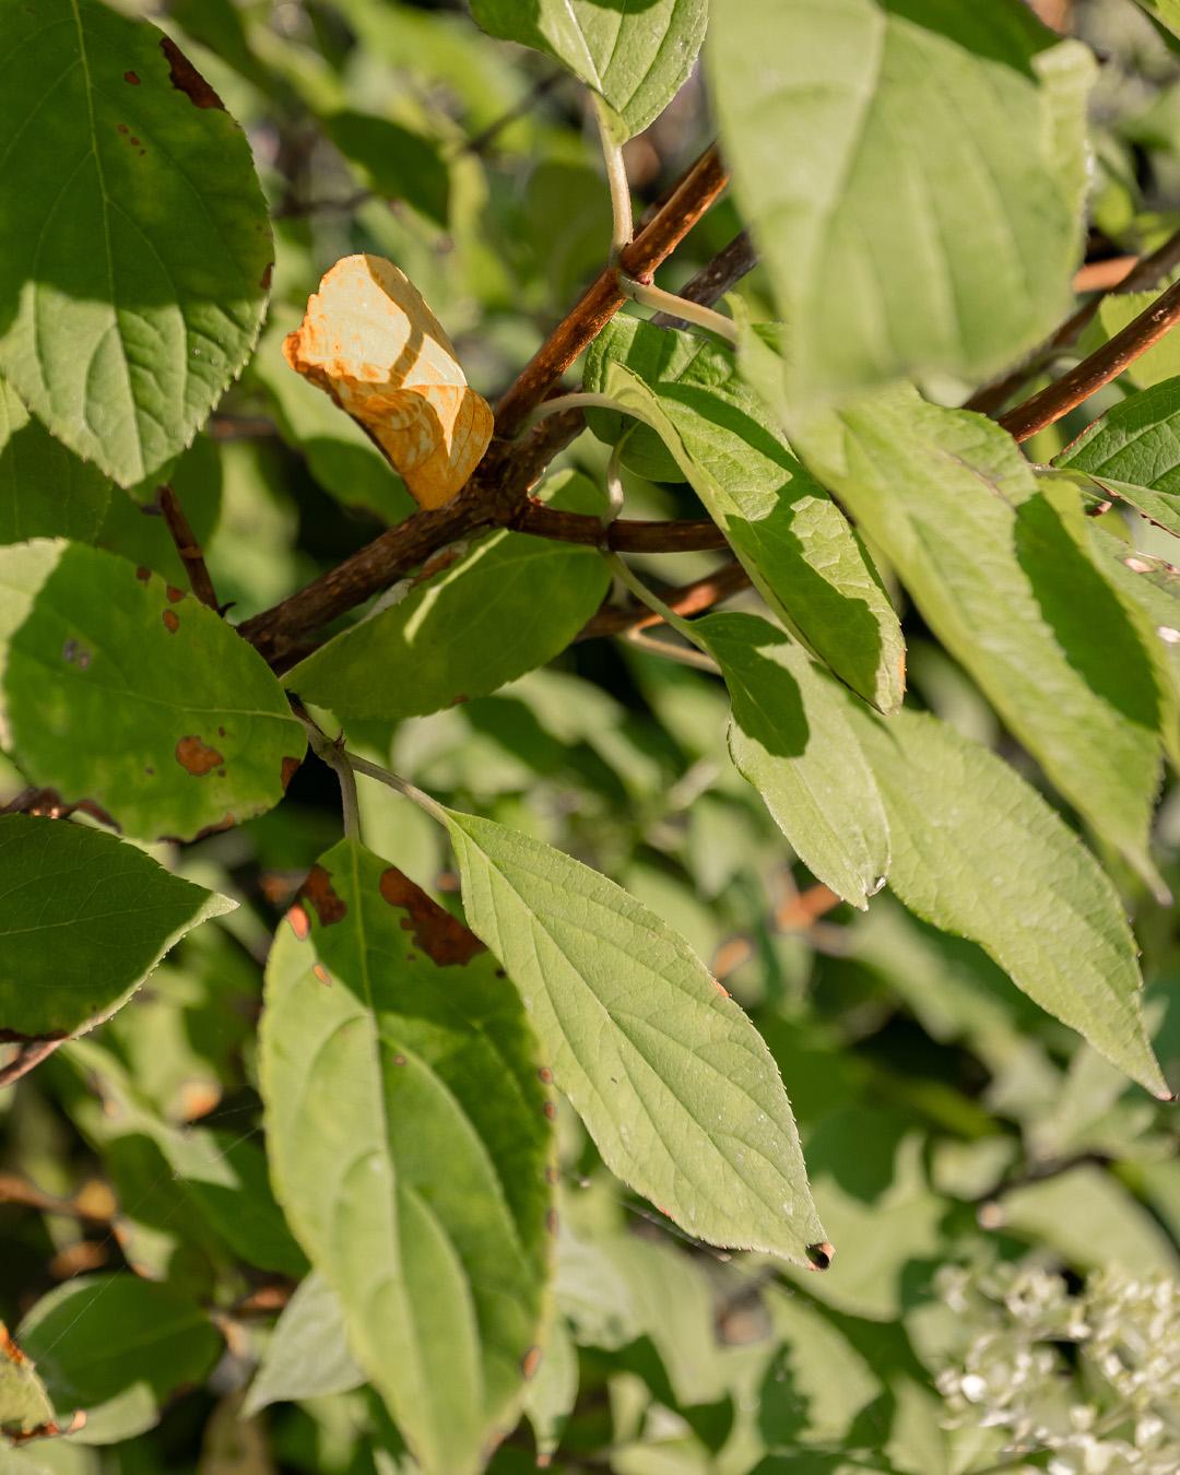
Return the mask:
<path id="1" fill-rule="evenodd" d="M 633 277 L 649 277 L 712 205 L 726 180 L 717 149 L 707 149 L 624 248 L 622 270 Z M 615 270 L 605 267 L 500 400 L 496 438 L 453 502 L 437 510 L 416 512 L 382 532 L 280 605 L 245 621 L 237 627 L 239 634 L 257 646 L 271 665 L 283 670 L 308 631 L 322 628 L 388 589 L 437 549 L 479 528 L 512 525 L 527 506 L 528 488 L 578 434 L 583 419 L 580 414 L 555 414 L 522 440 L 513 441 L 512 437 L 519 435 L 531 412 L 624 301 Z"/>

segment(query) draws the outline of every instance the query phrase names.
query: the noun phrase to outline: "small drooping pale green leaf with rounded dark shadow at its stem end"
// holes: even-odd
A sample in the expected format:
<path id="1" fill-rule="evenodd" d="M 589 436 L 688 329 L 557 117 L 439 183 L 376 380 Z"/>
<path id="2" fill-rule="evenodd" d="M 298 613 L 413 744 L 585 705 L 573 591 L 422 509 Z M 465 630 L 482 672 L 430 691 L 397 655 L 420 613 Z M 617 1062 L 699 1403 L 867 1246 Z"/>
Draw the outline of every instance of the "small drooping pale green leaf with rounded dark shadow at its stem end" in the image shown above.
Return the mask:
<path id="1" fill-rule="evenodd" d="M 889 869 L 889 827 L 839 692 L 757 615 L 707 615 L 692 630 L 729 687 L 739 773 L 813 875 L 866 907 Z"/>

